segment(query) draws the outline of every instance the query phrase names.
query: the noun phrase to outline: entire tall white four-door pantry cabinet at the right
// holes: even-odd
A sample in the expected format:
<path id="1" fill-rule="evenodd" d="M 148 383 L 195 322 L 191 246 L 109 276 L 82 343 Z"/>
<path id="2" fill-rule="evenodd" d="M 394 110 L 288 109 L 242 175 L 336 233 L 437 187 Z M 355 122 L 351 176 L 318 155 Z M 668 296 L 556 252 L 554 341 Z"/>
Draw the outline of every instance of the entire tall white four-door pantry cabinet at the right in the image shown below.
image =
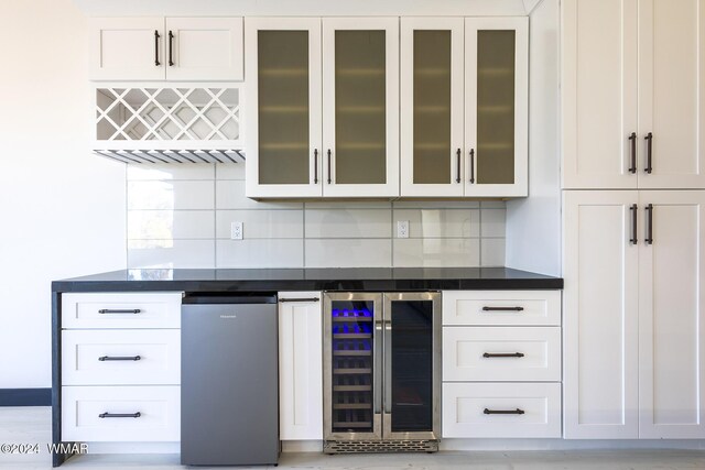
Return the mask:
<path id="1" fill-rule="evenodd" d="M 704 438 L 705 1 L 561 8 L 564 435 Z"/>

